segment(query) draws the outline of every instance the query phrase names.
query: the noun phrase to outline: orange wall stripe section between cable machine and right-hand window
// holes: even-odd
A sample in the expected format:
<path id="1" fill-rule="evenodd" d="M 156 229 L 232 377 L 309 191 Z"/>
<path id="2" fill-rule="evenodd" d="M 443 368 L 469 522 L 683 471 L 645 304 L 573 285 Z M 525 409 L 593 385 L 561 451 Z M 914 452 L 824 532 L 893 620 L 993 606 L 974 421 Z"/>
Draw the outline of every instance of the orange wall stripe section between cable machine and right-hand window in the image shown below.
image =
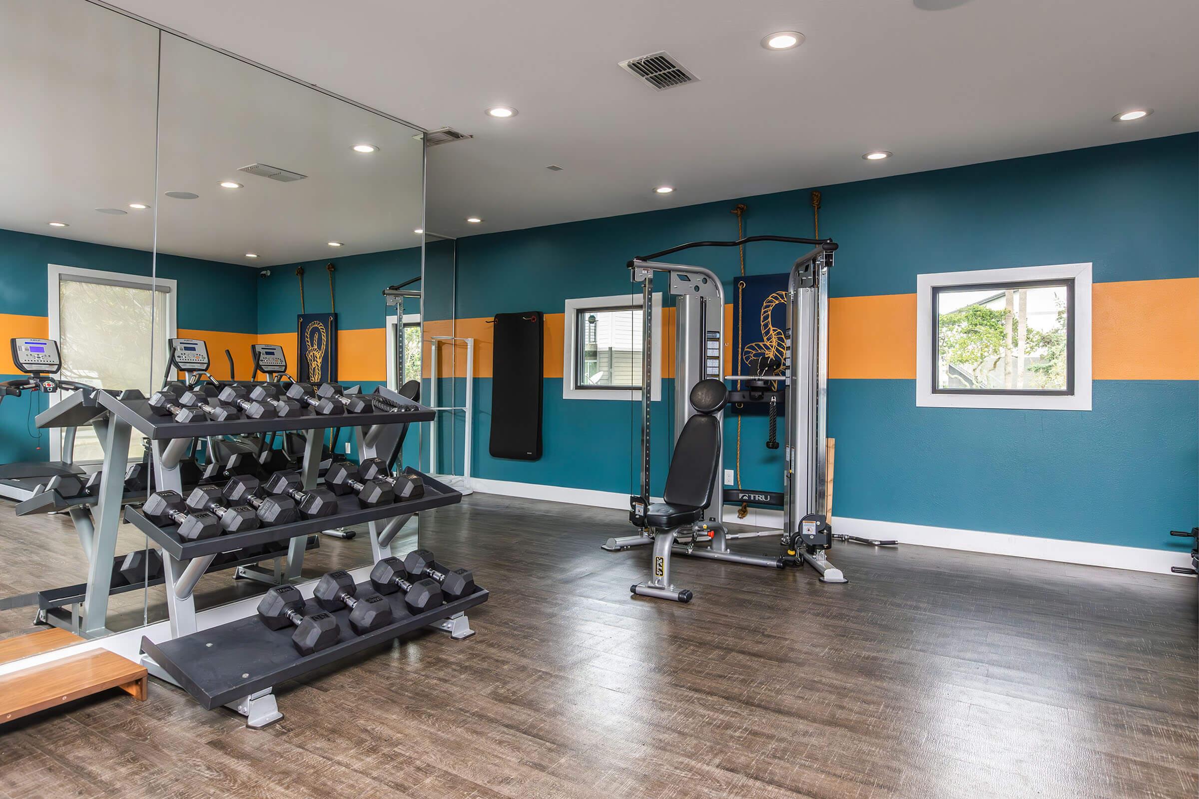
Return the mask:
<path id="1" fill-rule="evenodd" d="M 830 298 L 829 376 L 916 380 L 916 295 Z"/>

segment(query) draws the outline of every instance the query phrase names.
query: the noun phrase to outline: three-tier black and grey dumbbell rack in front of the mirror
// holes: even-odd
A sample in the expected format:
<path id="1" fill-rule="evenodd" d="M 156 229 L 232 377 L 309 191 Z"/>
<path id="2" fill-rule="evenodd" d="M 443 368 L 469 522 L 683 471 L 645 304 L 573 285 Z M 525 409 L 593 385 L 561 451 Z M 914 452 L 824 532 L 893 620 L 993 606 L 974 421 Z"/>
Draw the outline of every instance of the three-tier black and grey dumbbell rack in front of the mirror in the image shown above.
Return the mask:
<path id="1" fill-rule="evenodd" d="M 303 431 L 306 443 L 300 482 L 301 488 L 307 491 L 317 486 L 321 440 L 330 428 L 356 428 L 359 452 L 366 459 L 386 456 L 391 452 L 390 447 L 403 430 L 403 425 L 428 422 L 434 416 L 434 412 L 428 407 L 408 400 L 385 387 L 364 397 L 369 399 L 374 411 L 181 423 L 175 422 L 171 416 L 156 414 L 150 407 L 149 400 L 120 400 L 109 394 L 101 394 L 100 401 L 110 412 L 112 419 L 110 441 L 106 446 L 104 477 L 100 490 L 101 502 L 104 501 L 106 491 L 110 490 L 108 486 L 109 473 L 123 474 L 123 459 L 127 458 L 128 440 L 133 430 L 151 442 L 155 490 L 180 494 L 183 492 L 183 486 L 179 465 L 192 438 Z M 109 464 L 109 460 L 113 462 Z M 110 472 L 110 470 L 113 471 Z M 420 474 L 414 470 L 408 471 Z M 246 715 L 247 724 L 263 726 L 282 718 L 275 706 L 275 696 L 271 694 L 272 685 L 344 654 L 356 652 L 361 647 L 370 646 L 370 643 L 366 643 L 367 640 L 372 643 L 380 643 L 418 627 L 435 627 L 450 632 L 453 637 L 470 635 L 469 622 L 463 611 L 486 601 L 487 592 L 482 589 L 471 597 L 442 605 L 420 616 L 414 617 L 406 611 L 397 612 L 396 618 L 400 621 L 368 636 L 361 636 L 361 638 L 354 636 L 347 628 L 343 637 L 353 640 L 339 642 L 329 650 L 321 650 L 307 658 L 301 656 L 291 646 L 290 632 L 282 637 L 282 641 L 287 643 L 285 648 L 276 647 L 272 649 L 265 642 L 275 640 L 278 634 L 269 630 L 257 617 L 240 618 L 203 631 L 197 625 L 192 592 L 200 576 L 209 570 L 213 558 L 221 552 L 273 541 L 289 541 L 283 581 L 294 582 L 300 579 L 305 541 L 309 534 L 330 527 L 366 522 L 370 532 L 374 559 L 391 556 L 391 540 L 414 513 L 453 504 L 462 500 L 462 495 L 453 489 L 423 474 L 421 477 L 424 483 L 424 496 L 420 498 L 360 508 L 356 496 L 351 494 L 338 498 L 339 507 L 344 508 L 350 504 L 353 506 L 350 510 L 194 541 L 180 539 L 174 525 L 159 527 L 146 517 L 139 508 L 127 508 L 125 517 L 162 549 L 167 607 L 170 617 L 170 638 L 168 641 L 153 643 L 146 638 L 143 640 L 143 652 L 149 655 L 149 660 L 144 665 L 156 677 L 181 685 L 201 703 L 225 703 L 233 700 L 230 707 Z M 402 600 L 399 601 L 403 604 Z M 215 653 L 217 641 L 221 644 L 218 653 Z M 207 646 L 210 643 L 213 646 Z M 210 655 L 219 654 L 221 656 L 194 658 L 192 654 L 194 646 L 203 647 L 203 652 L 210 653 Z M 228 673 L 222 670 L 227 670 Z M 229 682 L 227 679 L 229 674 L 235 674 L 236 679 Z M 217 683 L 212 683 L 212 679 L 216 679 Z M 230 691 L 233 692 L 230 694 Z M 237 694 L 237 691 L 242 692 Z M 206 704 L 206 707 L 215 707 L 212 703 Z"/>

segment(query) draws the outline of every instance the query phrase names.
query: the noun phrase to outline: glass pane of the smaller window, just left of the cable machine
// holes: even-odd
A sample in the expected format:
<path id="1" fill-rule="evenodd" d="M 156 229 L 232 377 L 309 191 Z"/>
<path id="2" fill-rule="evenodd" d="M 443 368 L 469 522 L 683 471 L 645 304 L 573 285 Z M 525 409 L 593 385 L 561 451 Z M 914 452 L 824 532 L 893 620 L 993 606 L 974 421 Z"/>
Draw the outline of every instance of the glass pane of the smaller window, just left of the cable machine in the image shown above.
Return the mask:
<path id="1" fill-rule="evenodd" d="M 591 308 L 578 311 L 576 386 L 641 387 L 641 309 Z"/>

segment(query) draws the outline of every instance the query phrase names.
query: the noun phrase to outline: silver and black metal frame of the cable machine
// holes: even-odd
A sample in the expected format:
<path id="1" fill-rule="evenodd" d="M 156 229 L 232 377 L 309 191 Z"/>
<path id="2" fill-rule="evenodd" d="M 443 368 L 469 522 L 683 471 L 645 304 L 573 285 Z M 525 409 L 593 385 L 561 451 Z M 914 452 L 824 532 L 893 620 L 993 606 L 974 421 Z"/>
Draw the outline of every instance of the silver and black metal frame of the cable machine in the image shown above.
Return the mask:
<path id="1" fill-rule="evenodd" d="M 635 258 L 628 262 L 631 279 L 641 284 L 643 293 L 643 386 L 652 379 L 652 283 L 653 272 L 670 276 L 670 293 L 675 305 L 675 437 L 694 412 L 689 404 L 691 388 L 700 380 L 716 377 L 737 380 L 724 375 L 724 289 L 721 279 L 699 266 L 661 264 L 655 259 L 697 247 L 740 247 L 755 241 L 812 244 L 814 249 L 791 266 L 788 283 L 788 353 L 784 375 L 775 380 L 790 386 L 787 392 L 787 449 L 783 529 L 761 533 L 729 533 L 721 521 L 722 500 L 713 501 L 705 517 L 693 525 L 673 529 L 644 526 L 645 508 L 650 503 L 650 408 L 651 399 L 641 392 L 641 462 L 640 494 L 629 498 L 629 520 L 639 526 L 637 535 L 610 538 L 603 545 L 609 551 L 653 545 L 653 568 L 650 579 L 633 586 L 637 594 L 688 601 L 691 592 L 670 582 L 670 556 L 685 555 L 713 561 L 728 561 L 783 568 L 808 563 L 824 582 L 846 582 L 844 574 L 825 555 L 831 544 L 831 528 L 823 512 L 825 507 L 826 473 L 826 405 L 829 356 L 829 270 L 832 267 L 837 244 L 832 240 L 796 238 L 787 236 L 749 236 L 736 241 L 704 241 Z M 723 422 L 723 412 L 717 414 Z M 723 464 L 718 461 L 718 477 Z M 722 480 L 723 483 L 723 480 Z M 715 497 L 721 497 L 719 492 Z M 818 517 L 818 519 L 814 519 Z M 817 522 L 817 523 L 812 523 Z M 814 534 L 805 535 L 805 531 Z M 728 541 L 734 538 L 782 535 L 788 557 L 771 558 L 733 552 Z"/>

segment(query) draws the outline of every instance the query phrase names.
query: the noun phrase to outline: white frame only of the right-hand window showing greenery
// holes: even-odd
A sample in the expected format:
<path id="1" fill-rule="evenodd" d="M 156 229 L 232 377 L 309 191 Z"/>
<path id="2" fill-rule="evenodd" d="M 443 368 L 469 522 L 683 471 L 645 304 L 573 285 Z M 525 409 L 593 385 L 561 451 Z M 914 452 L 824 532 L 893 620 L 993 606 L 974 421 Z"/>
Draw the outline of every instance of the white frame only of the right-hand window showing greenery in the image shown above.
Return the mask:
<path id="1" fill-rule="evenodd" d="M 1074 393 L 966 394 L 933 391 L 933 289 L 994 283 L 1074 282 Z M 1091 410 L 1091 265 L 1055 264 L 1010 270 L 976 270 L 916 276 L 916 405 L 918 407 L 987 407 L 1032 411 Z"/>

